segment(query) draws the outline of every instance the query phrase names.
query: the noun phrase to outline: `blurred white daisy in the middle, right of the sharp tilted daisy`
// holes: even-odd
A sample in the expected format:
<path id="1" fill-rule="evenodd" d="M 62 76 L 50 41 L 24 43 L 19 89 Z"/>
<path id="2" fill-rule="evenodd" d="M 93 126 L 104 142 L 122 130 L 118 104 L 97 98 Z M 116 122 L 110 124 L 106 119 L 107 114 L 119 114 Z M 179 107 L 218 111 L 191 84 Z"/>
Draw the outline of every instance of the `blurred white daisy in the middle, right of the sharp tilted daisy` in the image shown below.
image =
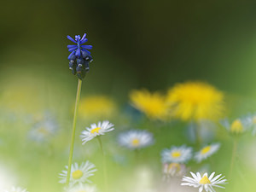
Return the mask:
<path id="1" fill-rule="evenodd" d="M 125 148 L 145 148 L 154 143 L 153 135 L 148 131 L 131 130 L 123 132 L 118 138 L 119 144 Z"/>

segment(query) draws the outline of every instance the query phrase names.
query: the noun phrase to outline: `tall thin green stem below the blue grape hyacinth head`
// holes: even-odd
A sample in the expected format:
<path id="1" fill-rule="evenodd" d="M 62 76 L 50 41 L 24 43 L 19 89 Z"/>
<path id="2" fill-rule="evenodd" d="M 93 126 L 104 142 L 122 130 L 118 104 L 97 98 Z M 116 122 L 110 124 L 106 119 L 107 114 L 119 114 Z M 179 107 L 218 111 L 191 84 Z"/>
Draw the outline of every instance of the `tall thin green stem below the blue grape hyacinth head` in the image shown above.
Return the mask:
<path id="1" fill-rule="evenodd" d="M 71 165 L 72 165 L 72 159 L 73 159 L 73 145 L 74 145 L 74 139 L 75 139 L 77 117 L 79 112 L 79 100 L 81 95 L 81 87 L 82 87 L 82 80 L 79 79 L 75 109 L 73 113 L 73 128 L 72 128 L 73 131 L 72 131 L 72 139 L 71 139 L 69 158 L 68 158 L 68 168 L 67 168 L 67 186 L 69 185 L 69 181 L 70 181 Z"/>

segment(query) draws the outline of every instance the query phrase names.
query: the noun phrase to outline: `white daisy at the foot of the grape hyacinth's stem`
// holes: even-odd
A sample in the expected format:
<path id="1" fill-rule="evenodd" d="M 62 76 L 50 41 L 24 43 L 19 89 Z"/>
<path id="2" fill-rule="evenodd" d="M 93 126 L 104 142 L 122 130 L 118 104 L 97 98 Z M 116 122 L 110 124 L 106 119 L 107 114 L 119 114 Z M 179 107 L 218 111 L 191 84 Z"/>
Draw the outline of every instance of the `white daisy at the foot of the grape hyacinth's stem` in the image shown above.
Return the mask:
<path id="1" fill-rule="evenodd" d="M 66 169 L 68 166 L 65 166 Z M 89 182 L 87 178 L 94 175 L 94 172 L 96 172 L 95 165 L 90 163 L 88 160 L 79 166 L 78 163 L 75 163 L 71 166 L 71 174 L 70 174 L 70 184 L 73 185 L 75 183 L 84 183 Z M 63 170 L 60 174 L 60 183 L 66 183 L 67 182 L 67 170 Z"/>

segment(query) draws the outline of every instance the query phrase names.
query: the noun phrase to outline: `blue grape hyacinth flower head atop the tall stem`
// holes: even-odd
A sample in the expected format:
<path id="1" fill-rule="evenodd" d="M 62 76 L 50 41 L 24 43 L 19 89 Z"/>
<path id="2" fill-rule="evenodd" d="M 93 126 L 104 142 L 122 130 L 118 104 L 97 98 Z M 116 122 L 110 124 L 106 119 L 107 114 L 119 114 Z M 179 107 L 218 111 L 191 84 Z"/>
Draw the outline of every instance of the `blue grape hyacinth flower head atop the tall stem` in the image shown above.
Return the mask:
<path id="1" fill-rule="evenodd" d="M 84 79 L 86 73 L 89 72 L 89 63 L 92 60 L 90 51 L 87 49 L 92 49 L 91 45 L 82 45 L 88 41 L 86 38 L 86 33 L 83 37 L 76 35 L 75 38 L 71 38 L 67 35 L 67 38 L 72 41 L 75 45 L 67 45 L 67 49 L 71 52 L 67 59 L 69 60 L 69 69 L 72 70 L 74 75 L 78 75 L 79 79 Z"/>

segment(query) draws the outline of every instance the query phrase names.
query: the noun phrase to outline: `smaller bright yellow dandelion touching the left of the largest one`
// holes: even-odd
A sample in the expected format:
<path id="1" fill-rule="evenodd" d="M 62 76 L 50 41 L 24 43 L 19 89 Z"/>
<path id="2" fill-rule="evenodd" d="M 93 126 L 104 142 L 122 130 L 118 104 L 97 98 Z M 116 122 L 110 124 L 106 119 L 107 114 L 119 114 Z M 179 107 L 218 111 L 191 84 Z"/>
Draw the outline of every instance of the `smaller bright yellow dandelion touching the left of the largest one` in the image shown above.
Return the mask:
<path id="1" fill-rule="evenodd" d="M 130 94 L 131 104 L 149 119 L 166 119 L 166 96 L 159 92 L 150 93 L 148 90 L 133 90 Z"/>

